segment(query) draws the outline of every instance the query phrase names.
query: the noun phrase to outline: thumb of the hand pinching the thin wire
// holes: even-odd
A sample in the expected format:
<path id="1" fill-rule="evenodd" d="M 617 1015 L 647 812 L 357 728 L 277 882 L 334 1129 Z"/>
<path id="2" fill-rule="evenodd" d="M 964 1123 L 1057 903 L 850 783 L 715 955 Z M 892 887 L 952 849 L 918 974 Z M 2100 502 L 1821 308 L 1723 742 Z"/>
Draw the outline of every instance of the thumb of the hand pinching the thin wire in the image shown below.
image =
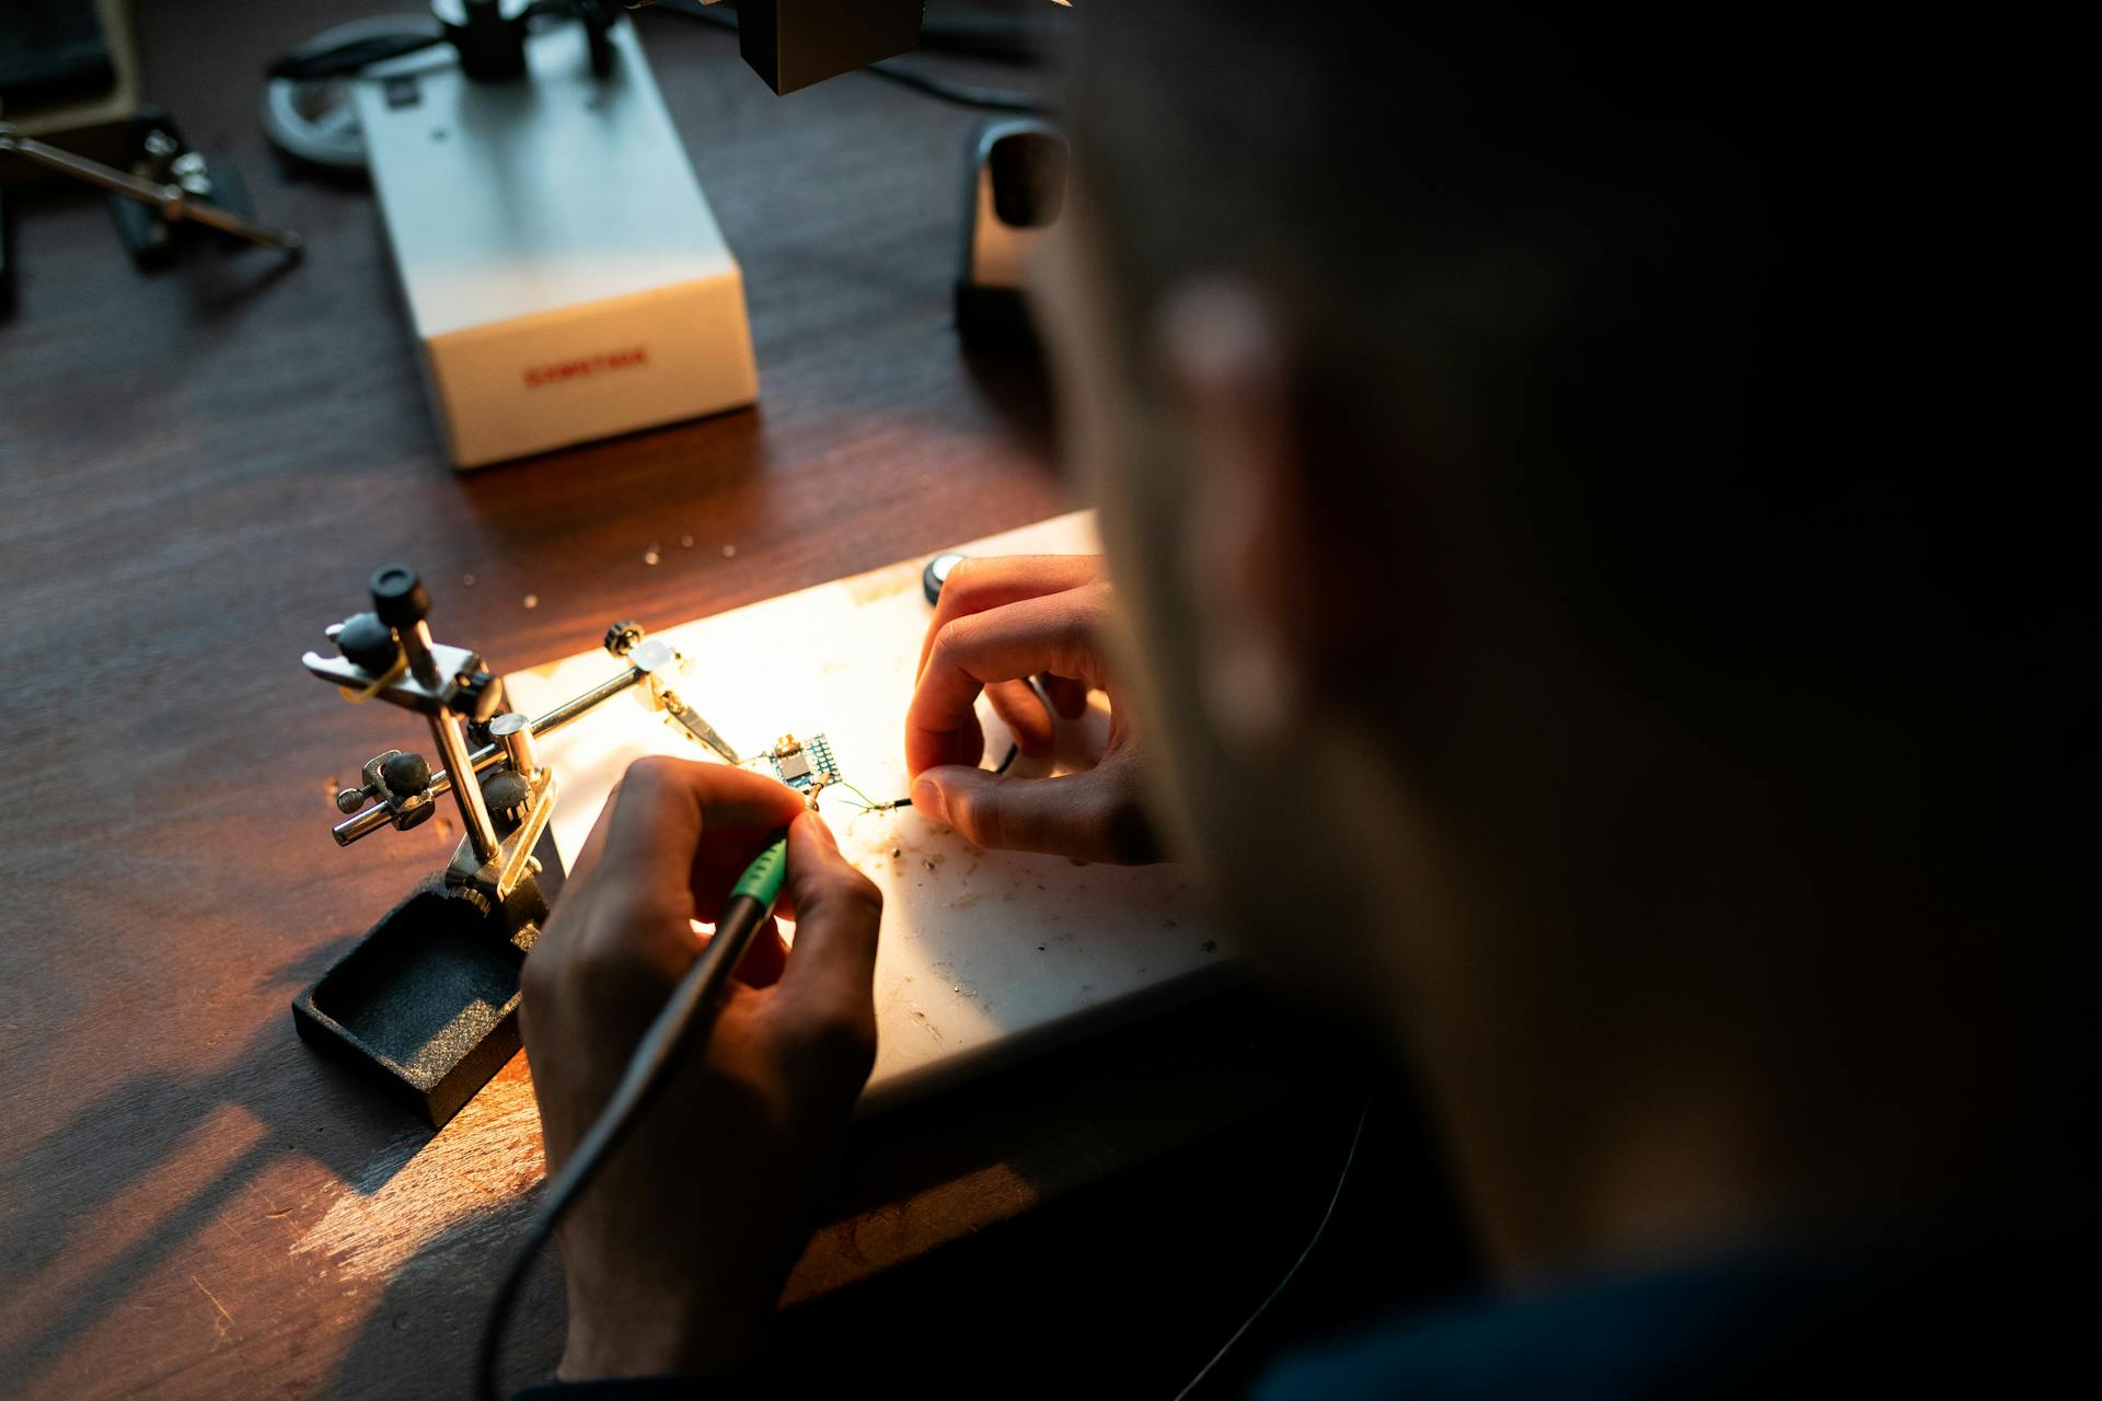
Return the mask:
<path id="1" fill-rule="evenodd" d="M 1116 863 L 1160 857 L 1137 786 L 1122 765 L 1055 779 L 946 765 L 912 779 L 912 807 L 980 846 Z"/>

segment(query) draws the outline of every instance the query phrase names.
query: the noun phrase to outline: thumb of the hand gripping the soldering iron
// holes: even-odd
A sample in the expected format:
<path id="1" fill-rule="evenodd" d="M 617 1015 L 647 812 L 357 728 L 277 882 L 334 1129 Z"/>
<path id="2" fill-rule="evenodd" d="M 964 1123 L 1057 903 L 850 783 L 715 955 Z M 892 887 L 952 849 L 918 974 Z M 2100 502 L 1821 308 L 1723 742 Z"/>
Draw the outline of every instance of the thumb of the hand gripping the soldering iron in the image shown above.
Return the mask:
<path id="1" fill-rule="evenodd" d="M 832 830 L 816 813 L 788 828 L 786 886 L 799 914 L 776 996 L 799 1023 L 872 1038 L 883 893 L 839 855 Z"/>

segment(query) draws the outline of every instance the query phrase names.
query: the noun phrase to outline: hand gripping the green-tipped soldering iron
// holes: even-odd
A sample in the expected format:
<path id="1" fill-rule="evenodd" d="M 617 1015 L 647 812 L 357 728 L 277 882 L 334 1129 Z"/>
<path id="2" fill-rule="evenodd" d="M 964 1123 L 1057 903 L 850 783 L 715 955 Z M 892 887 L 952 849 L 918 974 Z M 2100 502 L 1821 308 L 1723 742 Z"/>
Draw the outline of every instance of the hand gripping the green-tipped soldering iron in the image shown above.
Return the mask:
<path id="1" fill-rule="evenodd" d="M 803 798 L 721 765 L 645 758 L 605 802 L 526 960 L 521 1023 L 549 1174 L 704 943 L 731 882 L 788 828 L 782 914 L 561 1227 L 561 1376 L 721 1372 L 748 1359 L 811 1229 L 877 1048 L 883 895 Z"/>

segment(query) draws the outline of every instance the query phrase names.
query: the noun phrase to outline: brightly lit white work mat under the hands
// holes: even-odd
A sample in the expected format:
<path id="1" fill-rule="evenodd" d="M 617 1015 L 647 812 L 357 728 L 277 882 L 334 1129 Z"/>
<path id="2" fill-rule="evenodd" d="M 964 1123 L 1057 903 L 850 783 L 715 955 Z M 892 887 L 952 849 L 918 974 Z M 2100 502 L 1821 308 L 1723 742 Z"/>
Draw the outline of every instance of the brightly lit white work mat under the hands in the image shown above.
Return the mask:
<path id="1" fill-rule="evenodd" d="M 956 546 L 967 555 L 1087 555 L 1095 523 L 1074 513 Z M 883 802 L 906 794 L 904 718 L 921 639 L 933 618 L 921 590 L 927 557 L 832 584 L 652 630 L 687 657 L 681 697 L 740 752 L 784 733 L 824 735 L 849 783 Z M 652 620 L 641 620 L 650 626 Z M 616 674 L 586 651 L 504 678 L 511 704 L 542 714 Z M 984 702 L 986 762 L 1007 727 Z M 1101 695 L 1083 725 L 1106 729 Z M 1062 723 L 1062 752 L 1087 731 Z M 622 695 L 540 741 L 561 786 L 555 844 L 574 863 L 620 773 L 643 754 L 715 758 Z M 717 760 L 719 762 L 719 760 Z M 1017 773 L 1040 771 L 1028 760 Z M 1188 872 L 1118 867 L 984 851 L 912 809 L 858 813 L 851 794 L 820 809 L 841 853 L 883 886 L 877 958 L 877 1069 L 862 1109 L 891 1105 L 984 1069 L 1024 1040 L 1064 1040 L 1200 983 L 1225 954 L 1196 916 Z"/>

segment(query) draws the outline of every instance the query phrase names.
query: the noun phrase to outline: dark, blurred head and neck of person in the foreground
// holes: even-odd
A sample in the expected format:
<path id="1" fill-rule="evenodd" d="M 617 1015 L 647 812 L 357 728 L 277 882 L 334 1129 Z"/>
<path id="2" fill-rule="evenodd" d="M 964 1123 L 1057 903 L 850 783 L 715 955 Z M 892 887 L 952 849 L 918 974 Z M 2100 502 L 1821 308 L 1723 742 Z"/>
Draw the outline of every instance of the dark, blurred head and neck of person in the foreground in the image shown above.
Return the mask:
<path id="1" fill-rule="evenodd" d="M 1078 15 L 1043 294 L 1171 830 L 1434 1092 L 1478 1059 L 1476 1149 L 1818 1065 L 1928 1120 L 2047 987 L 1946 1023 L 2073 647 L 1997 59 L 1396 8 Z M 1852 1162 L 1770 1113 L 1713 1153 Z"/>

